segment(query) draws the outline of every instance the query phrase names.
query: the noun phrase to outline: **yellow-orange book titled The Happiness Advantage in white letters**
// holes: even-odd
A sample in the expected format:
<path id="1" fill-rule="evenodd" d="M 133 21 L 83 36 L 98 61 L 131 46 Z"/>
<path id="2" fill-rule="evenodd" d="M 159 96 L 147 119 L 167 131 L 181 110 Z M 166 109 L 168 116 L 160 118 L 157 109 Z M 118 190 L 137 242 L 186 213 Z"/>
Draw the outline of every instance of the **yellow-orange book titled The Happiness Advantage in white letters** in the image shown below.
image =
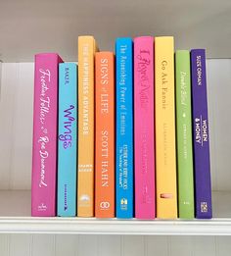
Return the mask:
<path id="1" fill-rule="evenodd" d="M 94 56 L 93 36 L 78 37 L 77 216 L 94 216 Z"/>

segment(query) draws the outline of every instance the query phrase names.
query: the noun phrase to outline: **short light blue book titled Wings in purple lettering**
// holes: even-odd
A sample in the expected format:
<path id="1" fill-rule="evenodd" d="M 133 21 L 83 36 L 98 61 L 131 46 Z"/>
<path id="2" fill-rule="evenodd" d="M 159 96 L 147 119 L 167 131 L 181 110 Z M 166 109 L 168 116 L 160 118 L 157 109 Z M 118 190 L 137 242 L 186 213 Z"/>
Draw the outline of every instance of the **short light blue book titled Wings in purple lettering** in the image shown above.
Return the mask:
<path id="1" fill-rule="evenodd" d="M 77 66 L 59 65 L 58 216 L 76 216 Z"/>

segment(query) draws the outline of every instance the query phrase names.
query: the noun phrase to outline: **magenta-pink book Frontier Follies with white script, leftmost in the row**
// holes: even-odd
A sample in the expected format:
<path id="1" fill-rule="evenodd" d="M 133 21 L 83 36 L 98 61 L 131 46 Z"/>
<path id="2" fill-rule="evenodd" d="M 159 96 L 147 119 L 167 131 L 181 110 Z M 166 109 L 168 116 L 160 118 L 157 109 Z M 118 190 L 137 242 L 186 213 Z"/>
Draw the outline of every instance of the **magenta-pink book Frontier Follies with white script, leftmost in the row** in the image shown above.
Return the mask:
<path id="1" fill-rule="evenodd" d="M 35 55 L 31 215 L 56 216 L 58 54 Z"/>

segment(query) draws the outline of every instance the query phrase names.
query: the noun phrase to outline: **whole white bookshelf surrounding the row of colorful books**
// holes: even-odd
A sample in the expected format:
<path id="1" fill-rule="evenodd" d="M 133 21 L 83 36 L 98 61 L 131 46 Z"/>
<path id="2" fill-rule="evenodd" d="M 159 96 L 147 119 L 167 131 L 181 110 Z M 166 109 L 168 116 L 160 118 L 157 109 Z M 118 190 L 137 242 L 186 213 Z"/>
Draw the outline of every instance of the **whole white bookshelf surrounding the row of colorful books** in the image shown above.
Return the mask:
<path id="1" fill-rule="evenodd" d="M 230 256 L 230 0 L 3 1 L 0 5 L 0 255 Z M 33 55 L 77 60 L 77 36 L 174 35 L 206 48 L 213 219 L 31 218 Z"/>

